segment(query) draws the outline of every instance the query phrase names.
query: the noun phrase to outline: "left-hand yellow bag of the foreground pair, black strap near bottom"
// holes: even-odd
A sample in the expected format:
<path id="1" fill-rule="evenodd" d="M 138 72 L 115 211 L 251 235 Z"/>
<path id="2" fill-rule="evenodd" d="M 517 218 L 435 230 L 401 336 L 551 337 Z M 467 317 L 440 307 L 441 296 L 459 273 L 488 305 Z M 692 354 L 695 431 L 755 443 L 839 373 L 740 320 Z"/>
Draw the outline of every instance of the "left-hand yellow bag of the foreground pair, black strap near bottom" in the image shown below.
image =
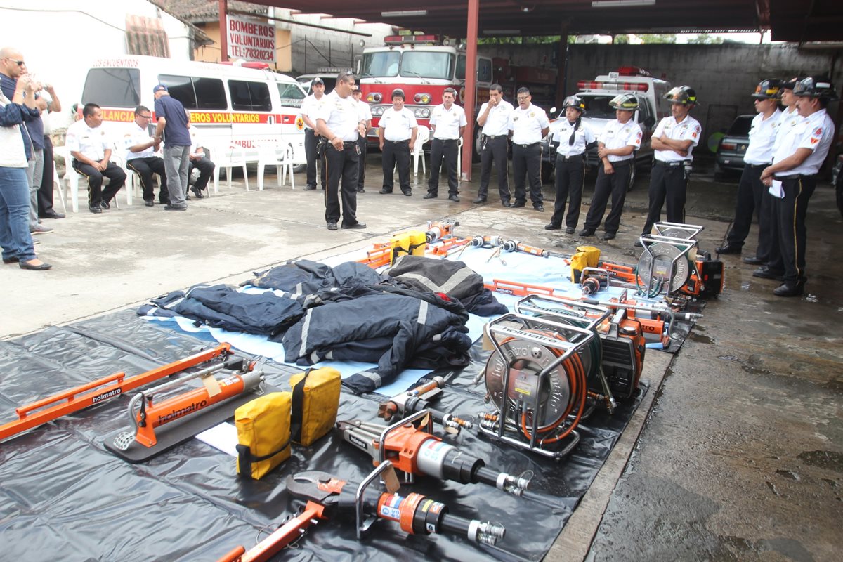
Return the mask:
<path id="1" fill-rule="evenodd" d="M 237 474 L 262 478 L 290 458 L 293 393 L 269 393 L 234 410 Z"/>

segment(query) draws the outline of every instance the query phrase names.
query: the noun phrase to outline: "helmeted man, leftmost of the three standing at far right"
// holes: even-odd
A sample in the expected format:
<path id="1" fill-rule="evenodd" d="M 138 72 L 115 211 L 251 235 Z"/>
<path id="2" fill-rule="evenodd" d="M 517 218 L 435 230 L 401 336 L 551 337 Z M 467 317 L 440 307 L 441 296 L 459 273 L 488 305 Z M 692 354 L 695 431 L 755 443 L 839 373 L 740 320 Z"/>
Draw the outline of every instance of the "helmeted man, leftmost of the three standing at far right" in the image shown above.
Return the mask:
<path id="1" fill-rule="evenodd" d="M 781 80 L 763 80 L 755 88 L 755 115 L 749 127 L 749 147 L 744 154 L 744 172 L 738 185 L 738 201 L 735 204 L 735 217 L 732 229 L 726 236 L 726 244 L 717 249 L 717 254 L 740 254 L 744 240 L 752 226 L 753 213 L 758 215 L 758 247 L 755 256 L 769 252 L 770 227 L 766 217 L 761 214 L 761 197 L 766 190 L 761 184 L 761 170 L 773 161 L 773 144 L 779 129 L 781 111 L 779 96 Z M 755 259 L 754 259 L 755 260 Z M 749 263 L 755 263 L 754 260 Z M 761 262 L 763 263 L 763 262 Z"/>

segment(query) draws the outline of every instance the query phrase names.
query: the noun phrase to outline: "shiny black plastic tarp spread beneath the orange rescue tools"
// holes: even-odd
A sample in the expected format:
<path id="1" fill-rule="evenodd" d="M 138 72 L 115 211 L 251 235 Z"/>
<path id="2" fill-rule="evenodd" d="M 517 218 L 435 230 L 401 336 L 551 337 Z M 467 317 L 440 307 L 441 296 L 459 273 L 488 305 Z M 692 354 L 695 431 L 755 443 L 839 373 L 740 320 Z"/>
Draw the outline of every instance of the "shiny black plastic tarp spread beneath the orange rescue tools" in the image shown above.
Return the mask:
<path id="1" fill-rule="evenodd" d="M 6 358 L 0 371 L 0 424 L 16 419 L 14 408 L 20 404 L 112 372 L 131 376 L 213 345 L 210 338 L 149 322 L 132 310 L 0 341 Z M 479 345 L 472 352 L 474 361 L 464 371 L 439 373 L 448 387 L 438 409 L 465 416 L 491 411 L 483 404 L 482 385 L 472 384 L 488 352 Z M 300 370 L 263 360 L 260 368 L 267 382 L 282 389 Z M 105 450 L 102 436 L 128 426 L 128 399 L 121 396 L 0 443 L 0 558 L 215 560 L 239 544 L 249 549 L 303 505 L 287 495 L 287 475 L 323 470 L 359 482 L 372 469 L 371 459 L 336 432 L 313 447 L 293 447 L 293 457 L 260 481 L 239 479 L 233 457 L 195 439 L 148 463 L 126 463 Z M 377 420 L 381 399 L 343 393 L 339 419 Z M 540 559 L 639 400 L 621 404 L 615 415 L 597 411 L 580 426 L 583 439 L 572 455 L 558 462 L 473 431 L 444 437 L 490 468 L 534 473 L 534 500 L 427 477 L 412 486 L 442 500 L 456 515 L 503 523 L 507 535 L 497 548 L 457 537 L 407 536 L 397 523 L 385 521 L 357 543 L 353 517 L 337 517 L 311 527 L 283 559 Z"/>

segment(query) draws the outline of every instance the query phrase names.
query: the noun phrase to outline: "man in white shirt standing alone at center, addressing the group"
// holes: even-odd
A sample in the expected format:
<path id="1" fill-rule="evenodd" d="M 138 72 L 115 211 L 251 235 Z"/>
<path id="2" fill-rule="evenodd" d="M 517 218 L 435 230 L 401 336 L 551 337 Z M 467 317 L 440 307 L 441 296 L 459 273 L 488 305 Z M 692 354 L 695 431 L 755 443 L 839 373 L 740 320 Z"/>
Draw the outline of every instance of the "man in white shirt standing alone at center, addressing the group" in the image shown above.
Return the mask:
<path id="1" fill-rule="evenodd" d="M 357 169 L 360 147 L 357 139 L 366 134 L 366 122 L 360 119 L 357 102 L 352 96 L 354 72 L 341 72 L 336 77 L 334 91 L 325 95 L 316 112 L 316 128 L 325 146 L 325 222 L 328 230 L 336 230 L 336 223 L 343 228 L 365 228 L 357 221 Z M 340 182 L 342 180 L 342 182 Z M 340 205 L 342 183 L 342 205 Z M 342 213 L 340 213 L 342 211 Z"/>

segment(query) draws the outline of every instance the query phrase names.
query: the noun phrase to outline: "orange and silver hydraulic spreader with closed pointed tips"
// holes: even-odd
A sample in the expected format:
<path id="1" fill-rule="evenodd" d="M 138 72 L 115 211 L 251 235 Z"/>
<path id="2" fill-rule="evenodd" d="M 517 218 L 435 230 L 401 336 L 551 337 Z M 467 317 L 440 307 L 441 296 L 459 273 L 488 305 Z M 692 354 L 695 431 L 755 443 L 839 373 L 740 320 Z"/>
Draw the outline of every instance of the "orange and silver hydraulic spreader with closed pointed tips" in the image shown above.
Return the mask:
<path id="1" fill-rule="evenodd" d="M 427 431 L 415 425 L 416 422 L 424 425 L 423 420 L 427 420 Z M 486 468 L 481 458 L 431 435 L 432 419 L 425 409 L 388 427 L 360 420 L 338 421 L 336 426 L 346 442 L 373 458 L 374 466 L 386 460 L 393 463 L 405 474 L 407 484 L 414 481 L 414 476 L 427 474 L 460 484 L 488 484 L 520 496 L 532 478 L 531 473 L 513 476 Z"/>

